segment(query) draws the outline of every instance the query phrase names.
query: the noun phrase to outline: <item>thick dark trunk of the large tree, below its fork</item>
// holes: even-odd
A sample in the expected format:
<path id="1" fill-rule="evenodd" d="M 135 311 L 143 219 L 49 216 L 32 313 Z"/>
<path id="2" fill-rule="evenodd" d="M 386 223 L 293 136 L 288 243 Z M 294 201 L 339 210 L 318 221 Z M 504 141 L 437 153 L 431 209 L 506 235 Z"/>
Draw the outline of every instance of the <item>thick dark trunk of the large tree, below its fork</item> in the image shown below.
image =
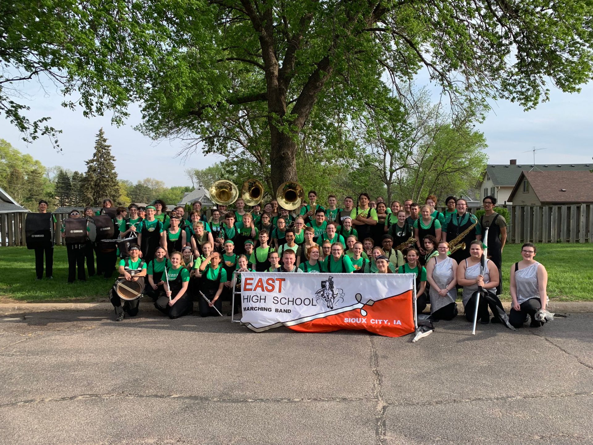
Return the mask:
<path id="1" fill-rule="evenodd" d="M 298 181 L 297 177 L 297 142 L 295 135 L 285 134 L 270 123 L 270 177 L 272 193 L 286 181 Z"/>

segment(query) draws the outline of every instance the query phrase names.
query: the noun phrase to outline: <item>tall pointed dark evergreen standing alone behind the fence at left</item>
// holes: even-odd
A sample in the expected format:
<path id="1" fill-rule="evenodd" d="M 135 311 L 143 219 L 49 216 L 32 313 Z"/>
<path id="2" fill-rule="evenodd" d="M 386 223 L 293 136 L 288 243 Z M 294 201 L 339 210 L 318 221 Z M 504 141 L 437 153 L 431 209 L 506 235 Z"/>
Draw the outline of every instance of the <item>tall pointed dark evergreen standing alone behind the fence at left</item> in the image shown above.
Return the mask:
<path id="1" fill-rule="evenodd" d="M 111 198 L 114 201 L 119 198 L 115 157 L 111 154 L 110 147 L 101 128 L 95 141 L 93 157 L 86 161 L 87 172 L 82 186 L 84 197 L 89 205 L 101 205 L 105 198 Z"/>

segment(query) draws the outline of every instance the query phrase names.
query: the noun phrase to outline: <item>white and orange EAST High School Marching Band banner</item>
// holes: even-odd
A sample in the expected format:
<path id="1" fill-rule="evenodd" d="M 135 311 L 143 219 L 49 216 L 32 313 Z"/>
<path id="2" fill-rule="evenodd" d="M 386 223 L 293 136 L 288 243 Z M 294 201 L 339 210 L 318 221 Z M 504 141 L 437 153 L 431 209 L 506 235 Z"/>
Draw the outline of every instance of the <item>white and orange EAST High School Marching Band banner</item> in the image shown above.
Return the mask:
<path id="1" fill-rule="evenodd" d="M 407 335 L 415 332 L 414 279 L 415 274 L 241 272 L 241 323 L 256 332 L 286 326 Z"/>

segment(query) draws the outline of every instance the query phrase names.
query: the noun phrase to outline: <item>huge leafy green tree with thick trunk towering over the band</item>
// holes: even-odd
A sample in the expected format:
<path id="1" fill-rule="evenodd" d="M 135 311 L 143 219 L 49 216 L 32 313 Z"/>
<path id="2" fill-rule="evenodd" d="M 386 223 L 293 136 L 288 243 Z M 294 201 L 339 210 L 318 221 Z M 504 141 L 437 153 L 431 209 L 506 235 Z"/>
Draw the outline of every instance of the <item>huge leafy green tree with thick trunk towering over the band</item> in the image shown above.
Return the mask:
<path id="1" fill-rule="evenodd" d="M 65 93 L 79 91 L 85 112 L 109 109 L 116 120 L 140 100 L 151 136 L 210 138 L 221 151 L 225 123 L 247 122 L 247 109 L 261 129 L 253 134 L 268 144 L 273 189 L 297 179 L 299 136 L 315 109 L 347 122 L 385 83 L 397 89 L 422 67 L 454 109 L 488 97 L 534 107 L 550 84 L 578 91 L 592 71 L 593 5 L 579 0 L 49 0 L 42 9 L 24 0 L 2 8 L 0 54 L 23 71 L 12 84 L 50 72 Z M 20 110 L 4 103 L 21 126 Z"/>

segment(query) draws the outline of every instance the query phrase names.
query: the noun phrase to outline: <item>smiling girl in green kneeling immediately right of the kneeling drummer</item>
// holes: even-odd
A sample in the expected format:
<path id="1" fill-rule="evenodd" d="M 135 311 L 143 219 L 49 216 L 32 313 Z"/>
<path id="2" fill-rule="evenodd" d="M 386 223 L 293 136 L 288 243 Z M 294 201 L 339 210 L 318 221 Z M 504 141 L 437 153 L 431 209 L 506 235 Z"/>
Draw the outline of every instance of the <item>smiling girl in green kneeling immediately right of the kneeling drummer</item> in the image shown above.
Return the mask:
<path id="1" fill-rule="evenodd" d="M 183 317 L 192 313 L 193 301 L 187 292 L 189 285 L 189 271 L 181 266 L 181 252 L 173 252 L 170 255 L 171 266 L 165 268 L 165 294 L 159 297 L 154 307 L 169 318 Z"/>

